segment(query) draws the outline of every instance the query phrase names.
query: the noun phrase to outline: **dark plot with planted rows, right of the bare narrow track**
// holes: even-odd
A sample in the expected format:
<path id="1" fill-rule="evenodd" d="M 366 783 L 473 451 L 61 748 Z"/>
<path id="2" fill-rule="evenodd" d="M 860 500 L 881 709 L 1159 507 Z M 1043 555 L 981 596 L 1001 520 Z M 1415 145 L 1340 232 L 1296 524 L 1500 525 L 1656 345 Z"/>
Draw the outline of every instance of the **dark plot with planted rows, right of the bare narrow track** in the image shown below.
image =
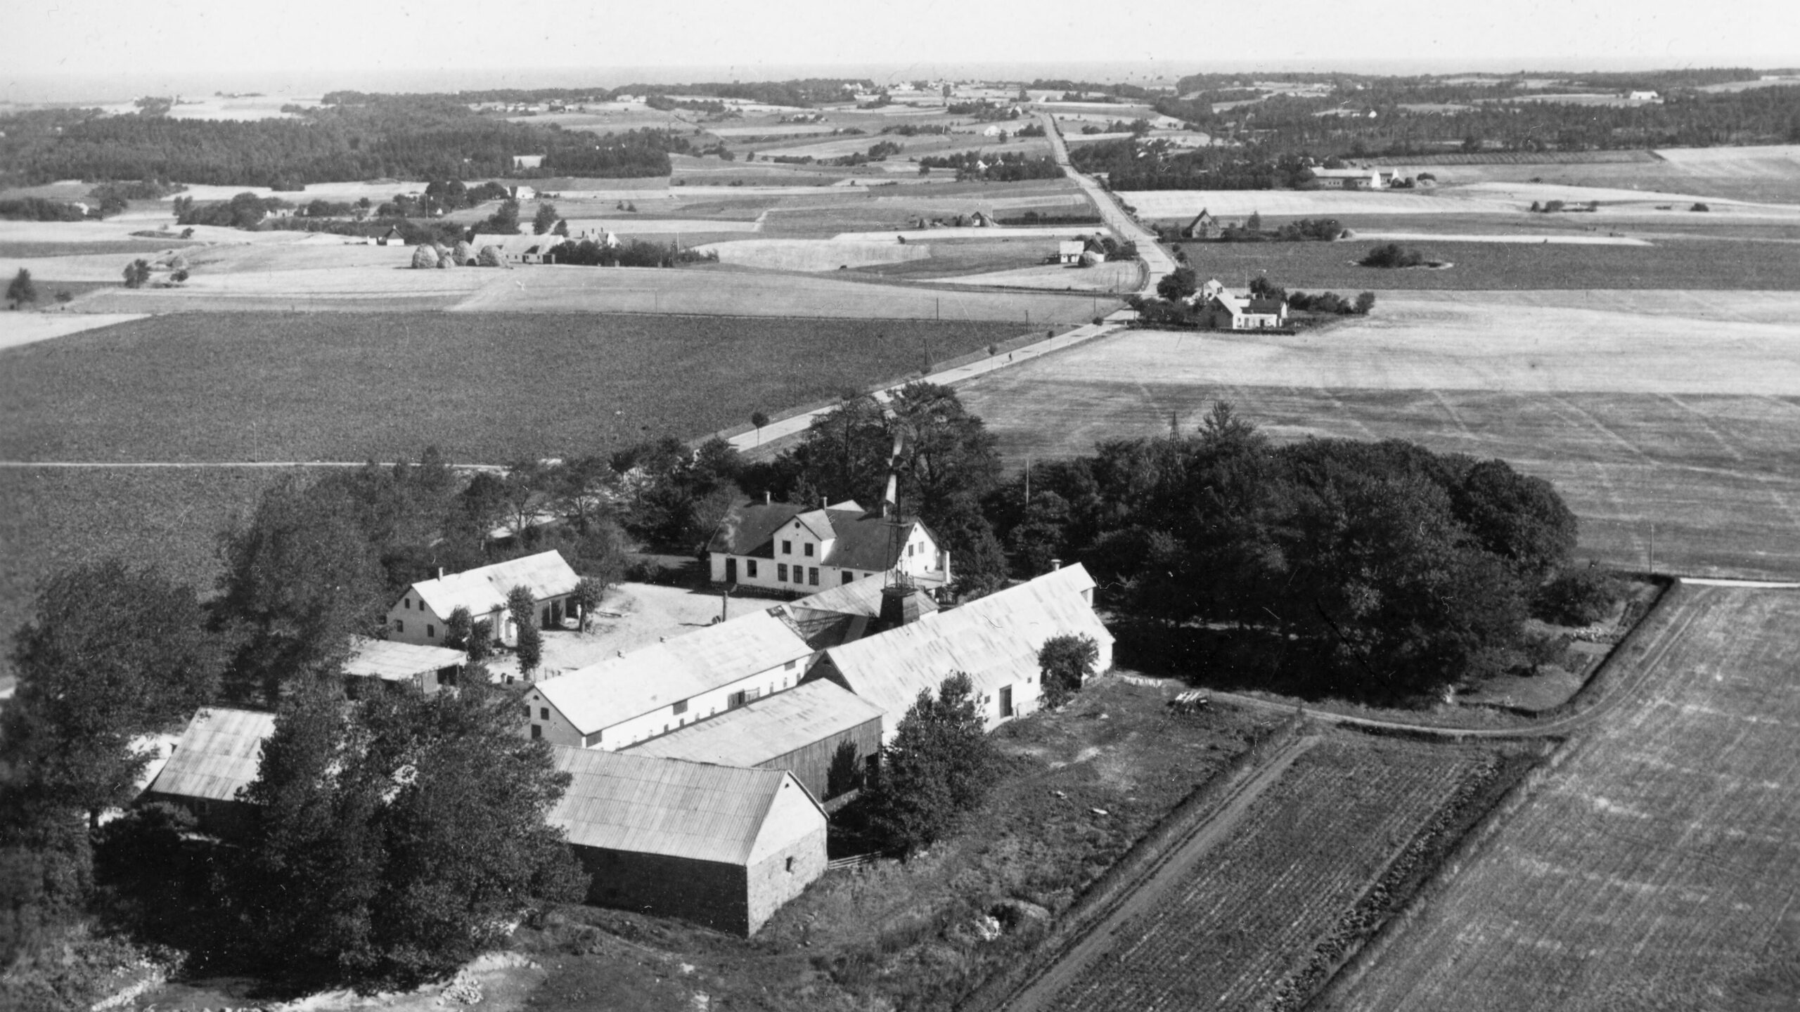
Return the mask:
<path id="1" fill-rule="evenodd" d="M 1046 1007 L 1262 1008 L 1487 753 L 1334 736 Z"/>

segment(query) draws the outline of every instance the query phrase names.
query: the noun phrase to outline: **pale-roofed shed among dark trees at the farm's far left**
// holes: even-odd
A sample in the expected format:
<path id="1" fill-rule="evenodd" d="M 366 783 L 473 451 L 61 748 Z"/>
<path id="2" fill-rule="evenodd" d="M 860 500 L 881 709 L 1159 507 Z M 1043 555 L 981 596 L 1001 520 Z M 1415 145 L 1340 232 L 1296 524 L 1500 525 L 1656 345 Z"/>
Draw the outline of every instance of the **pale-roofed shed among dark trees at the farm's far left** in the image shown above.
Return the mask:
<path id="1" fill-rule="evenodd" d="M 252 807 L 238 791 L 256 780 L 263 740 L 274 733 L 274 713 L 200 708 L 139 803 L 180 805 L 194 814 L 202 832 L 241 836 L 250 828 Z"/>

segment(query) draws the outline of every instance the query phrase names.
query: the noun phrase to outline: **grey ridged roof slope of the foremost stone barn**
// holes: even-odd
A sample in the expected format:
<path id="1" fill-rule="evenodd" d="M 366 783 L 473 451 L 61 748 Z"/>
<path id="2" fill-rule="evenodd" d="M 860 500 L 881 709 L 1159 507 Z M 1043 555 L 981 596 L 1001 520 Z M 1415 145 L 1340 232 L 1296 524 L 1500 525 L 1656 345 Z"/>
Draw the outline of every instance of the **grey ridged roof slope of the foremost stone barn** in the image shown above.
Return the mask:
<path id="1" fill-rule="evenodd" d="M 806 791 L 781 769 L 563 745 L 554 753 L 556 769 L 574 780 L 547 821 L 576 846 L 747 864 L 776 794 Z"/>

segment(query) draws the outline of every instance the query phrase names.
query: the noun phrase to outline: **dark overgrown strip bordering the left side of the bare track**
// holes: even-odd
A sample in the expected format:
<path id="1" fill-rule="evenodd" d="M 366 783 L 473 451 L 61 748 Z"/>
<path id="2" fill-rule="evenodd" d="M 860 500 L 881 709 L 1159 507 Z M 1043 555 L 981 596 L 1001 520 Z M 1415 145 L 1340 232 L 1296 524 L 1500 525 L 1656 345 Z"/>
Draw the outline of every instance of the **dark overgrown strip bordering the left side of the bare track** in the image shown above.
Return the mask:
<path id="1" fill-rule="evenodd" d="M 1183 843 L 1224 812 L 1258 773 L 1278 756 L 1300 747 L 1305 727 L 1307 722 L 1301 715 L 1289 717 L 1238 753 L 1206 783 L 1195 787 L 1181 805 L 1087 886 L 1080 899 L 1051 926 L 1030 958 L 990 976 L 956 1007 L 958 1012 L 999 1012 L 1031 987 L 1064 954 L 1080 945 L 1094 927 L 1103 924 L 1143 882 L 1168 864 Z"/>

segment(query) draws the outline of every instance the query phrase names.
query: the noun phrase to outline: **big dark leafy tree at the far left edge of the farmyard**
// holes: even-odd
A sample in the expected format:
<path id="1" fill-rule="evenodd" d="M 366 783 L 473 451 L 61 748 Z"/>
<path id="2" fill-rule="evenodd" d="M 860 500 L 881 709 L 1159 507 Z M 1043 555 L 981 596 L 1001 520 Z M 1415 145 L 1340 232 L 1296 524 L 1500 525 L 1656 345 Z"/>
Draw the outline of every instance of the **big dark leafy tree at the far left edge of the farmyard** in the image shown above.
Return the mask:
<path id="1" fill-rule="evenodd" d="M 65 571 L 14 636 L 0 758 L 32 794 L 97 819 L 148 762 L 131 738 L 209 702 L 225 659 L 193 589 L 160 571 L 112 558 Z"/>

